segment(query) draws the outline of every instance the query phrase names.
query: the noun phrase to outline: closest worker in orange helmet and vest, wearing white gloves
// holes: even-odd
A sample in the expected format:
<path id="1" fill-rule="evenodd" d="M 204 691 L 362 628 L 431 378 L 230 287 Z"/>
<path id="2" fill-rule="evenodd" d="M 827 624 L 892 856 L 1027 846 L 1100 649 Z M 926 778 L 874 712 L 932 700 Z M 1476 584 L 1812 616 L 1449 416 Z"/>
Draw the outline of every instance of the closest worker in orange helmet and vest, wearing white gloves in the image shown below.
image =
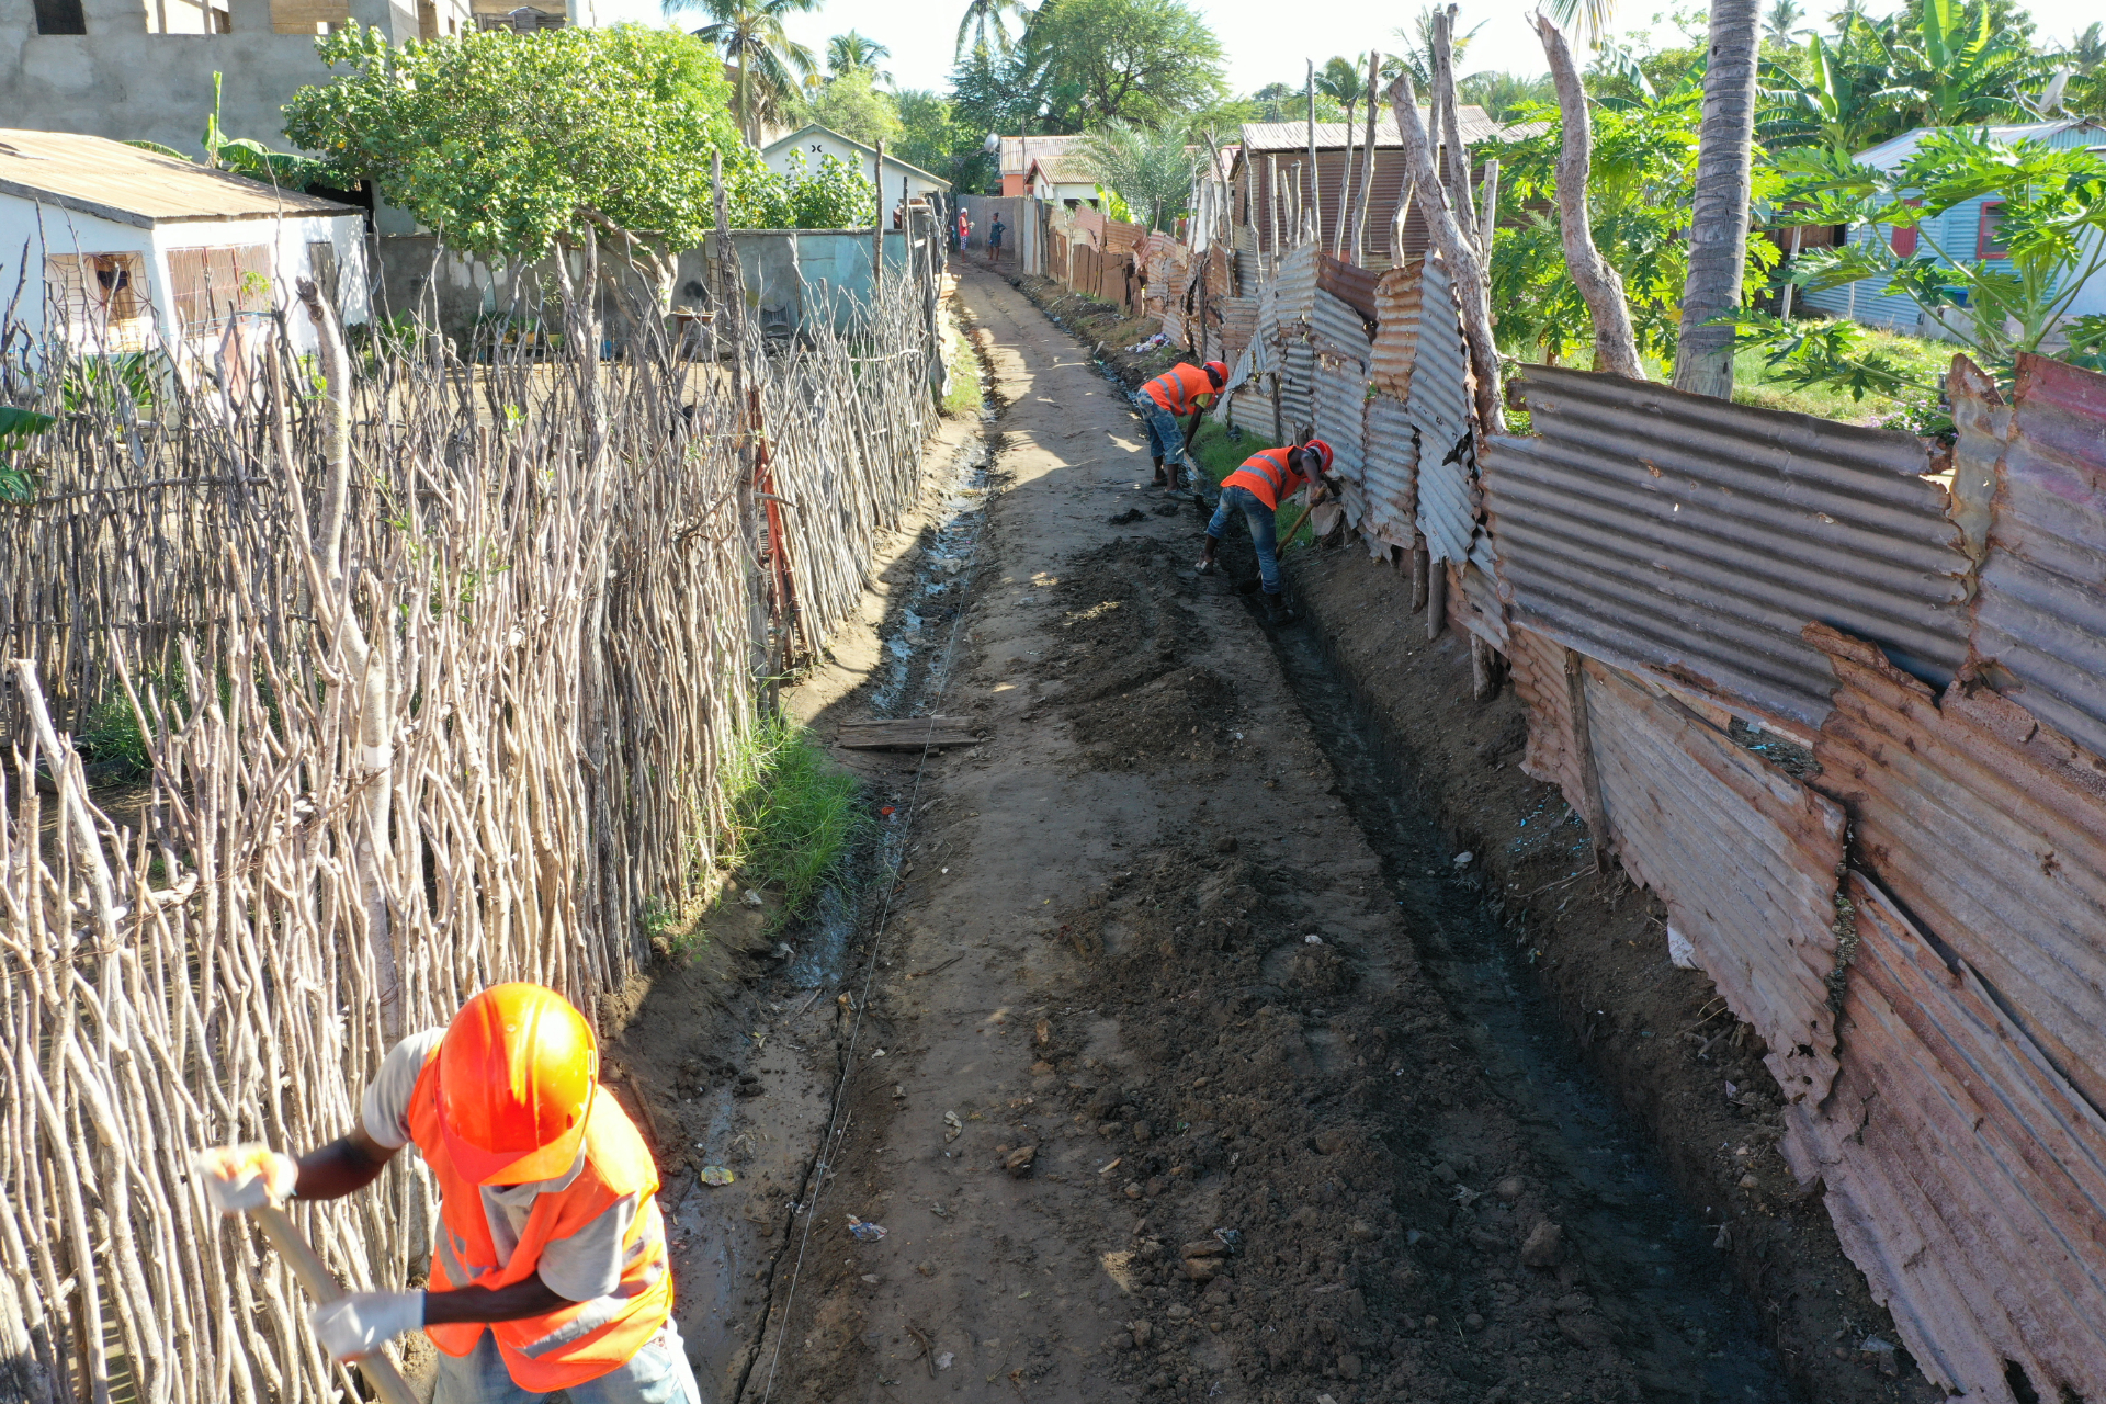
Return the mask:
<path id="1" fill-rule="evenodd" d="M 438 1347 L 432 1404 L 701 1404 L 672 1320 L 657 1166 L 598 1086 L 592 1027 L 541 985 L 495 985 L 396 1044 L 352 1135 L 299 1160 L 204 1151 L 221 1212 L 364 1189 L 415 1143 L 438 1181 L 432 1286 L 314 1309 L 337 1360 L 419 1326 Z"/>

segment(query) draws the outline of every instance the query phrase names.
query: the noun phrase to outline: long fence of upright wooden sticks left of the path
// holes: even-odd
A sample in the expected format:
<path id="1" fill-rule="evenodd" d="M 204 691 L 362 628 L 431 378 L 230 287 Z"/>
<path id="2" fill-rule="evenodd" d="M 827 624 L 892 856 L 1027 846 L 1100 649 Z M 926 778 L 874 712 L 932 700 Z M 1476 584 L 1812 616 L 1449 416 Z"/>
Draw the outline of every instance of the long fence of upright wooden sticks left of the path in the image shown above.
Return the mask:
<path id="1" fill-rule="evenodd" d="M 0 507 L 0 1398 L 356 1387 L 190 1149 L 341 1135 L 493 979 L 592 1012 L 638 968 L 756 688 L 918 493 L 931 293 L 613 362 L 335 328 L 310 362 L 280 322 L 171 377 L 0 328 L 0 398 L 59 415 Z M 564 345 L 602 345 L 590 301 Z M 150 777 L 114 798 L 74 733 Z M 432 1206 L 402 1168 L 299 1215 L 400 1284 Z"/>

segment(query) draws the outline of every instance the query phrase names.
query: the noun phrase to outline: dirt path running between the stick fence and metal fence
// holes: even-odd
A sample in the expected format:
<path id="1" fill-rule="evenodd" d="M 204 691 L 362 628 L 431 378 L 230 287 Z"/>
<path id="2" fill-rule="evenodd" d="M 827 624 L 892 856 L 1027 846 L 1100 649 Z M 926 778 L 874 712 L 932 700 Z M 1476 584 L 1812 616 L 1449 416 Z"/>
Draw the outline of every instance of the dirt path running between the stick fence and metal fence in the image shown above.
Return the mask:
<path id="1" fill-rule="evenodd" d="M 779 1021 L 853 1029 L 849 1095 L 773 1261 L 722 1269 L 764 1282 L 737 1398 L 1782 1402 L 1723 1278 L 1638 1242 L 1691 1217 L 1575 1168 L 1628 1154 L 1422 964 L 1468 916 L 1394 888 L 1116 387 L 1005 282 L 962 295 L 998 495 L 931 703 L 988 739 L 857 760 L 903 865 L 859 1023 Z"/>

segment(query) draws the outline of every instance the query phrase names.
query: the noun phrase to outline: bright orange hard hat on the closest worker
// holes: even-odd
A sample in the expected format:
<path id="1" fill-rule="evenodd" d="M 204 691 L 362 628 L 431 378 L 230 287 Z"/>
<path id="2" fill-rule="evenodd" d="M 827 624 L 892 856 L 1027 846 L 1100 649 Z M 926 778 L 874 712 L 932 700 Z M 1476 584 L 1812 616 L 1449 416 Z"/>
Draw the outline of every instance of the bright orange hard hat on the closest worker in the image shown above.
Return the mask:
<path id="1" fill-rule="evenodd" d="M 545 985 L 491 985 L 438 1044 L 438 1126 L 478 1185 L 556 1179 L 577 1162 L 600 1078 L 592 1025 Z"/>

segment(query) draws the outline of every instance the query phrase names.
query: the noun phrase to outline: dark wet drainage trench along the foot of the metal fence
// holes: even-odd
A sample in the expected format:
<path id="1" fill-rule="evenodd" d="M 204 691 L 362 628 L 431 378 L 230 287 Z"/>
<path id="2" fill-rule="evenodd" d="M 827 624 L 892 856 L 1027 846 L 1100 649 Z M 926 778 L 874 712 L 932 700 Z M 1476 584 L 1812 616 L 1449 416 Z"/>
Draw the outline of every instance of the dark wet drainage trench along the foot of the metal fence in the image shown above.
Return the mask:
<path id="1" fill-rule="evenodd" d="M 1339 798 L 1382 861 L 1422 966 L 1491 1082 L 1504 1088 L 1539 1164 L 1554 1172 L 1567 1229 L 1596 1292 L 1622 1305 L 1626 1356 L 1660 1404 L 1786 1404 L 1775 1351 L 1706 1227 L 1609 1090 L 1575 1057 L 1510 932 L 1455 876 L 1451 846 L 1379 726 L 1312 631 L 1274 629 L 1272 648 L 1337 775 Z M 1567 838 L 1565 834 L 1558 836 Z M 1586 842 L 1571 831 L 1573 842 Z"/>

